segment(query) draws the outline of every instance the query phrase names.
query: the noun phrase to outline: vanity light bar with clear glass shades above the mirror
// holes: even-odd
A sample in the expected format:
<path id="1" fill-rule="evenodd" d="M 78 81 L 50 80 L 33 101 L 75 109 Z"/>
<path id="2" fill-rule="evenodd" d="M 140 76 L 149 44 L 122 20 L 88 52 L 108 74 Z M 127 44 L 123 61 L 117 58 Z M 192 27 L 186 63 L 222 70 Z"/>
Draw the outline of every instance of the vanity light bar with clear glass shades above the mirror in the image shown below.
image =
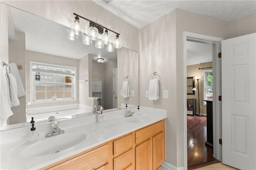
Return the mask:
<path id="1" fill-rule="evenodd" d="M 76 13 L 74 13 L 74 15 L 75 15 L 75 20 L 72 21 L 70 30 L 68 30 L 68 35 L 67 35 L 68 39 L 75 41 L 78 39 L 78 35 L 82 35 L 82 43 L 85 45 L 92 45 L 92 41 L 95 41 L 96 48 L 103 49 L 104 46 L 106 45 L 106 51 L 108 52 L 113 52 L 114 49 L 121 48 L 122 41 L 119 38 L 119 35 L 120 35 L 119 33 L 112 31 L 111 29 L 108 29 L 91 20 L 88 20 L 87 18 L 84 18 Z M 83 25 L 79 21 L 80 18 L 86 21 L 89 21 L 91 23 L 90 24 L 91 26 L 88 28 L 88 33 L 83 32 Z M 102 29 L 101 32 L 99 32 L 99 28 Z M 102 33 L 104 29 L 105 31 L 104 33 Z M 115 39 L 112 39 L 111 35 L 108 33 L 109 31 L 116 34 Z M 99 62 L 99 63 L 102 63 L 102 62 Z"/>

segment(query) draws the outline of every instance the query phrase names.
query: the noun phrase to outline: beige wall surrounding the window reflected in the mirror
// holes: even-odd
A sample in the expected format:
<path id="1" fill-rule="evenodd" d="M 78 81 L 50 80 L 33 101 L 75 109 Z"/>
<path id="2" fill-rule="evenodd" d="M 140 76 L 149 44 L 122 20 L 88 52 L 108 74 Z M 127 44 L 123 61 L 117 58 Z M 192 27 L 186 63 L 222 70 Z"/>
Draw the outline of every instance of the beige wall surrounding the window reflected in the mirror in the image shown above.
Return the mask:
<path id="1" fill-rule="evenodd" d="M 59 57 L 55 55 L 48 55 L 44 53 L 37 53 L 34 51 L 26 51 L 26 102 L 30 102 L 30 76 L 29 76 L 29 62 L 30 61 L 37 61 L 42 63 L 51 63 L 51 64 L 59 64 L 64 66 L 73 66 L 76 67 L 76 72 L 79 71 L 79 61 L 76 59 L 70 59 L 65 57 Z M 78 80 L 78 76 L 76 76 L 76 80 Z M 78 88 L 78 84 L 76 85 Z M 65 104 L 77 104 L 79 94 L 76 92 L 76 101 L 69 101 L 69 102 L 51 102 L 46 104 L 31 104 L 28 105 L 27 108 L 30 107 L 44 107 L 44 106 L 56 106 L 56 105 L 65 105 Z M 26 113 L 26 112 L 24 112 Z"/>

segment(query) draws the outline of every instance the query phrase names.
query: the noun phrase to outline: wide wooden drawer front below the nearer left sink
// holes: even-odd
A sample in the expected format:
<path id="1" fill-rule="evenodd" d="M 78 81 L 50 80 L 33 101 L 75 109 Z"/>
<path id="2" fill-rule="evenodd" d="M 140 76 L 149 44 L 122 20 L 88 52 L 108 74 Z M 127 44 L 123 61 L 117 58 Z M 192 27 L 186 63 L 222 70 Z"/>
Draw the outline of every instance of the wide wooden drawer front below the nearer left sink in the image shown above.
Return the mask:
<path id="1" fill-rule="evenodd" d="M 108 164 L 108 145 L 77 156 L 50 169 L 110 169 Z"/>

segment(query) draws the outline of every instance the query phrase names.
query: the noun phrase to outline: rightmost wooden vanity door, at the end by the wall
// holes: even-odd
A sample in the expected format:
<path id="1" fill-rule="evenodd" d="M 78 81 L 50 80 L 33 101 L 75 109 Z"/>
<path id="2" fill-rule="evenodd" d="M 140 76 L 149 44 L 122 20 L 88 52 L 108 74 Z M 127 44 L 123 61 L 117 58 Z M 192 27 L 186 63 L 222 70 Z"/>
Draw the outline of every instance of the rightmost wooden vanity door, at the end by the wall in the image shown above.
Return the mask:
<path id="1" fill-rule="evenodd" d="M 156 170 L 165 160 L 164 132 L 153 137 L 153 169 Z"/>

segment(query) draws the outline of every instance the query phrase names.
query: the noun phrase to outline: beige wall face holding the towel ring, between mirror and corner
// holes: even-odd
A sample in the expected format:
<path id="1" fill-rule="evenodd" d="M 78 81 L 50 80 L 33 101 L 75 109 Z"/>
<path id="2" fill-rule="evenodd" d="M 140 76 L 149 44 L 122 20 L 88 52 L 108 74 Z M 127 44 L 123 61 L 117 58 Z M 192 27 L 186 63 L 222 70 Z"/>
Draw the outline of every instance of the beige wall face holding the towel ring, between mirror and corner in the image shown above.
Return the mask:
<path id="1" fill-rule="evenodd" d="M 140 106 L 166 109 L 166 162 L 176 166 L 177 154 L 177 110 L 176 81 L 176 10 L 158 18 L 140 29 Z M 157 72 L 159 100 L 148 100 L 150 75 Z M 180 86 L 180 84 L 179 84 Z M 163 90 L 169 91 L 169 99 L 163 99 Z M 180 115 L 178 115 L 180 114 Z M 180 134 L 182 135 L 182 134 Z M 181 144 L 183 145 L 183 144 Z"/>

